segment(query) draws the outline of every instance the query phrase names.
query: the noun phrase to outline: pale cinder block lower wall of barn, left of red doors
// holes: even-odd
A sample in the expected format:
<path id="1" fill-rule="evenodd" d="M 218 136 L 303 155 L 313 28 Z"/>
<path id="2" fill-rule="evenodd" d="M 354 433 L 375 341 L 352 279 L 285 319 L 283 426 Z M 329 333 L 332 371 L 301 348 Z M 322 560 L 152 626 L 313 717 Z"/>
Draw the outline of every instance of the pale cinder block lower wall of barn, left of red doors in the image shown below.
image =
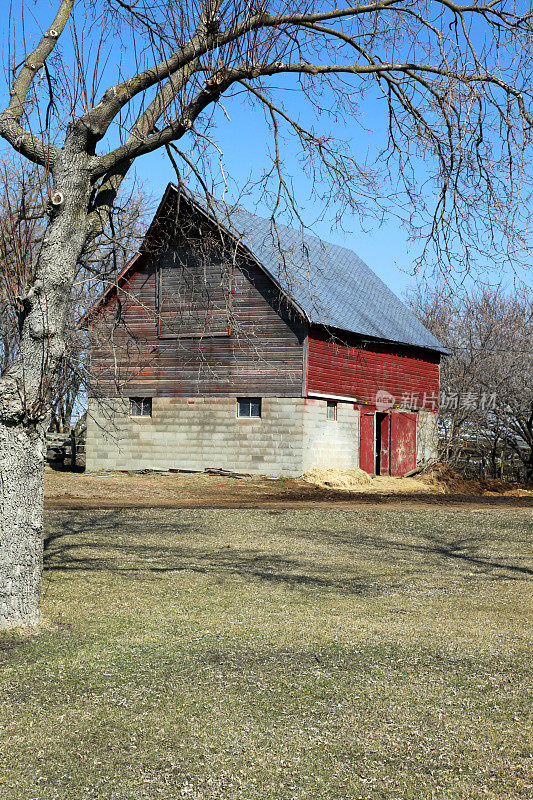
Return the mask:
<path id="1" fill-rule="evenodd" d="M 232 397 L 154 397 L 151 417 L 131 417 L 126 399 L 89 400 L 86 469 L 209 467 L 296 477 L 313 466 L 358 463 L 358 412 L 325 400 L 263 398 L 262 417 L 237 417 Z"/>

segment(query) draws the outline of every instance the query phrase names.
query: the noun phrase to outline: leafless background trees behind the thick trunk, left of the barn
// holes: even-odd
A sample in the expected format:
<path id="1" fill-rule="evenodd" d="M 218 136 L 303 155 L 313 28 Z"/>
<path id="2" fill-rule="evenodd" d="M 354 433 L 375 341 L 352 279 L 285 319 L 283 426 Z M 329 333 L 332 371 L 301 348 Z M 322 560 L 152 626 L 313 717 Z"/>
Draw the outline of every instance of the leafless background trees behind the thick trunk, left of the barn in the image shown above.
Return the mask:
<path id="1" fill-rule="evenodd" d="M 0 375 L 16 356 L 19 343 L 20 300 L 34 280 L 39 249 L 46 229 L 47 198 L 42 170 L 20 160 L 0 167 Z M 112 224 L 104 236 L 90 240 L 77 264 L 65 324 L 65 350 L 50 395 L 50 429 L 68 431 L 87 379 L 87 335 L 78 320 L 111 283 L 115 283 L 146 227 L 149 202 L 134 183 L 125 206 L 113 208 Z"/>

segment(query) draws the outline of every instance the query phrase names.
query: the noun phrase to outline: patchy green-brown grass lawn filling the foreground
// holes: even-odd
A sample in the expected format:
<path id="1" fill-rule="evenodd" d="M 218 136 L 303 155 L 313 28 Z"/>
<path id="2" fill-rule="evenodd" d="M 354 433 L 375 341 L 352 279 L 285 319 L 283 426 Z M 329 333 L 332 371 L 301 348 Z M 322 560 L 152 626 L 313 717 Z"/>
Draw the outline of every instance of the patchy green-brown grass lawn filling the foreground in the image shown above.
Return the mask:
<path id="1" fill-rule="evenodd" d="M 532 527 L 49 513 L 56 625 L 0 637 L 1 800 L 530 798 Z"/>

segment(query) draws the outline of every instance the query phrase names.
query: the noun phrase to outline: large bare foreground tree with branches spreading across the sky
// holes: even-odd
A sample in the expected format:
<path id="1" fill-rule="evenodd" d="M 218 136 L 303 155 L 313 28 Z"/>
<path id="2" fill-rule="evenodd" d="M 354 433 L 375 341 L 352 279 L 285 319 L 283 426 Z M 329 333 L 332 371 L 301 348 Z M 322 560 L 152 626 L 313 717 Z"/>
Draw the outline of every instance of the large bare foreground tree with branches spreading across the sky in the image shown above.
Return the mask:
<path id="1" fill-rule="evenodd" d="M 285 134 L 300 145 L 323 204 L 334 202 L 341 217 L 394 212 L 441 255 L 453 258 L 465 242 L 469 258 L 473 242 L 481 251 L 504 242 L 516 253 L 527 213 L 531 14 L 518 0 L 54 5 L 33 49 L 30 20 L 13 6 L 9 103 L 0 113 L 0 136 L 42 168 L 48 202 L 36 269 L 15 301 L 15 356 L 0 382 L 0 627 L 39 617 L 43 436 L 76 265 L 105 232 L 135 159 L 166 148 L 178 180 L 188 172 L 209 194 L 211 154 L 220 150 L 214 123 L 246 99 L 270 126 L 272 163 L 257 180 L 274 216 L 301 219 Z M 294 92 L 322 129 L 291 114 Z M 343 121 L 367 136 L 369 97 L 383 109 L 376 130 L 387 131 L 374 167 L 328 131 Z"/>

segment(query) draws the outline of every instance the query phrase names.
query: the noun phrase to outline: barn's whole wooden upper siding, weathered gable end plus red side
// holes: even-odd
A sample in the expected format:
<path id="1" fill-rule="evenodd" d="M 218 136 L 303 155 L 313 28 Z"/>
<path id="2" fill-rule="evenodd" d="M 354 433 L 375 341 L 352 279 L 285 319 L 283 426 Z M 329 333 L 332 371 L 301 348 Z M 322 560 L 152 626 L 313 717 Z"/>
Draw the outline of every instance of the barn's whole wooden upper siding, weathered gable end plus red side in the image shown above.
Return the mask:
<path id="1" fill-rule="evenodd" d="M 183 208 L 176 231 L 176 214 L 169 195 L 118 295 L 108 292 L 90 317 L 94 394 L 320 393 L 372 407 L 384 390 L 396 405 L 412 395 L 411 407 L 436 408 L 438 353 L 308 328 L 244 249 L 228 249 L 214 225 Z"/>

